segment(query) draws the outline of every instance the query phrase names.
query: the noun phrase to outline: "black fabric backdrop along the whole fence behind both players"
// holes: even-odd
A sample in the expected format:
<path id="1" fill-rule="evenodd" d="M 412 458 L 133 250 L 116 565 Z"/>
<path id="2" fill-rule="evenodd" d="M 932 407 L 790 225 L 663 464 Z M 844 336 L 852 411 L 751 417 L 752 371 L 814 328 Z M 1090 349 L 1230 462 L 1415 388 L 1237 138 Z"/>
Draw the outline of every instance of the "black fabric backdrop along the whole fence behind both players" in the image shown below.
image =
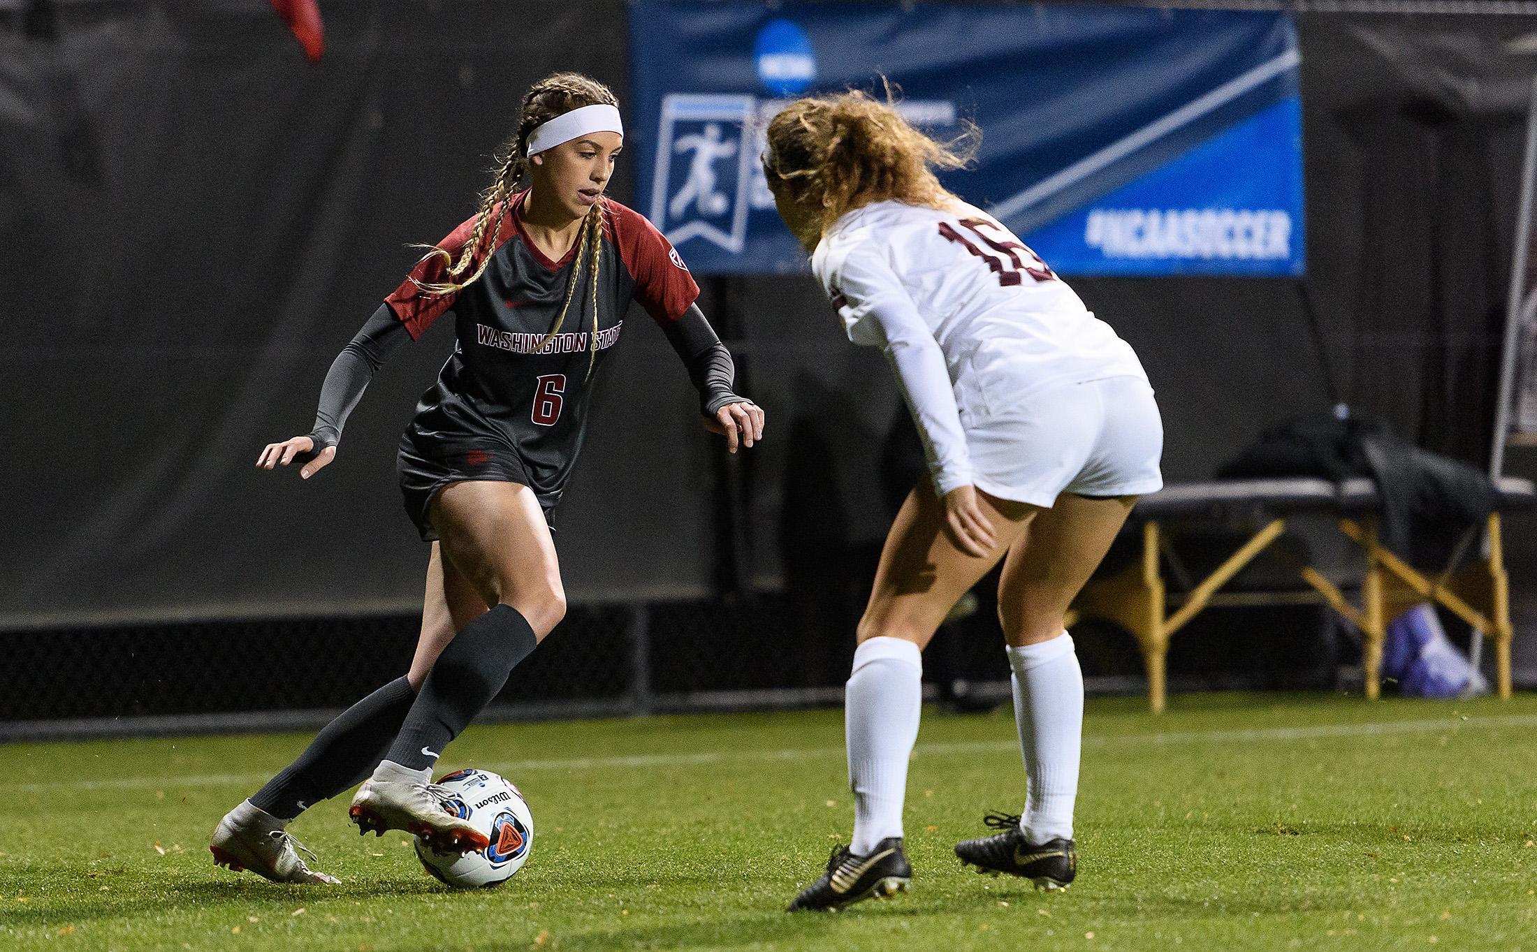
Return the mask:
<path id="1" fill-rule="evenodd" d="M 66 3 L 57 40 L 0 32 L 0 628 L 420 607 L 393 445 L 444 329 L 386 367 L 320 479 L 251 464 L 307 430 L 406 244 L 473 209 L 529 81 L 576 69 L 622 100 L 624 26 L 616 0 L 335 3 L 318 66 L 264 0 Z M 1489 71 L 1468 43 L 1497 51 L 1522 26 L 1302 17 L 1310 281 L 1336 387 L 1471 459 L 1522 117 L 1508 91 L 1457 80 Z M 613 193 L 630 193 L 622 169 Z M 1074 287 L 1148 367 L 1170 479 L 1334 399 L 1291 281 Z M 808 278 L 713 281 L 702 306 L 768 436 L 722 462 L 636 319 L 558 519 L 573 600 L 778 588 L 888 524 L 881 356 L 839 339 Z"/>

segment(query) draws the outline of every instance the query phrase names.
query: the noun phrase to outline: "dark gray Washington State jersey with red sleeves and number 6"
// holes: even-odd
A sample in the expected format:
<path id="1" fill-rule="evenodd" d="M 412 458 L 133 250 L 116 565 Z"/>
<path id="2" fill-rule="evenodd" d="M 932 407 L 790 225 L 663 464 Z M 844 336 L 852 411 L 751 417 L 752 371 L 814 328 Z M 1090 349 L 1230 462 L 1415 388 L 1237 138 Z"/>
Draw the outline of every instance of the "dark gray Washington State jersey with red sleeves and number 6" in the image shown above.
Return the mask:
<path id="1" fill-rule="evenodd" d="M 561 261 L 546 258 L 521 223 L 526 192 L 513 195 L 492 246 L 490 263 L 472 284 L 452 295 L 432 295 L 421 284 L 441 283 L 441 256 L 424 259 L 386 298 L 412 338 L 444 313 L 453 315 L 458 342 L 438 381 L 421 396 L 403 438 L 412 455 L 456 470 L 515 453 L 544 505 L 559 499 L 581 448 L 592 382 L 624 326 L 630 301 L 644 306 L 667 329 L 699 295 L 678 252 L 639 213 L 607 198 L 596 261 L 584 255 L 576 290 L 566 302 L 573 247 Z M 475 220 L 438 247 L 455 258 L 470 240 Z M 480 258 L 476 258 L 478 264 Z M 558 333 L 550 333 L 566 307 Z"/>

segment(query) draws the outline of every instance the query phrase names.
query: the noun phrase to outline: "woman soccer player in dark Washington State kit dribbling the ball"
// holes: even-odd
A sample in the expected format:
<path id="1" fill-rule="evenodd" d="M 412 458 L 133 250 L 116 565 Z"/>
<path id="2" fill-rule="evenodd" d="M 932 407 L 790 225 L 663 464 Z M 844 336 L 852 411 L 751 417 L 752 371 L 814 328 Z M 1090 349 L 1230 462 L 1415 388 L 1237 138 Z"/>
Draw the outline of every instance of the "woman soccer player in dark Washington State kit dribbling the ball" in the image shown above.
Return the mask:
<path id="1" fill-rule="evenodd" d="M 335 881 L 306 866 L 284 826 L 364 778 L 349 811 L 360 832 L 486 846 L 444 809 L 430 769 L 566 613 L 546 513 L 570 474 L 592 382 L 632 299 L 678 352 L 705 425 L 729 450 L 762 438 L 762 410 L 732 392 L 732 356 L 699 313 L 678 252 L 603 197 L 622 141 L 607 88 L 573 74 L 536 83 L 476 215 L 427 252 L 341 352 L 315 428 L 257 461 L 269 470 L 300 461 L 300 474 L 314 476 L 335 459 L 346 416 L 384 358 L 453 315 L 453 356 L 400 442 L 406 511 L 432 542 L 410 673 L 337 717 L 231 811 L 214 832 L 217 863 L 274 881 Z"/>

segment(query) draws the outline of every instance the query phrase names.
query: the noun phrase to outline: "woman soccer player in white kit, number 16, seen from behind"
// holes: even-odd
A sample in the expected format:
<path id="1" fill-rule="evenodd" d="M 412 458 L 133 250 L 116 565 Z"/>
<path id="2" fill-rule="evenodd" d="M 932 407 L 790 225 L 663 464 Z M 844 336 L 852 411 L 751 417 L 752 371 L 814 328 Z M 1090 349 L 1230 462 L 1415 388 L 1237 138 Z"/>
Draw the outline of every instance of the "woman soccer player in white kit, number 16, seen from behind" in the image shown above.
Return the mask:
<path id="1" fill-rule="evenodd" d="M 853 840 L 792 911 L 907 889 L 921 651 L 999 559 L 1025 808 L 990 815 L 1002 832 L 956 855 L 1048 889 L 1077 869 L 1084 676 L 1064 617 L 1136 496 L 1162 487 L 1164 427 L 1131 347 L 1008 229 L 939 184 L 933 169 L 967 157 L 859 92 L 799 100 L 768 126 L 779 215 L 812 250 L 848 339 L 891 361 L 930 470 L 891 525 L 859 620 L 845 694 Z"/>

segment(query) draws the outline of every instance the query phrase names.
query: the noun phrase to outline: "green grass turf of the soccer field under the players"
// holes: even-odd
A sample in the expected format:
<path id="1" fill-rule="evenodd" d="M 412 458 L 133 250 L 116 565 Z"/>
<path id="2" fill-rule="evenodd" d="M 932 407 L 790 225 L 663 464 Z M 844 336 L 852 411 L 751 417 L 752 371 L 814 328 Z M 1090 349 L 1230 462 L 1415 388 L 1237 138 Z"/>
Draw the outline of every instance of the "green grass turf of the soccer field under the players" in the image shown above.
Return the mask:
<path id="1" fill-rule="evenodd" d="M 1532 949 L 1534 728 L 1531 696 L 1094 702 L 1079 880 L 1045 895 L 950 854 L 1017 808 L 1010 717 L 928 712 L 913 892 L 793 917 L 851 821 L 836 711 L 473 728 L 443 766 L 512 777 L 535 843 L 466 894 L 346 798 L 295 825 L 343 886 L 217 869 L 214 823 L 298 735 L 0 746 L 0 949 Z"/>

